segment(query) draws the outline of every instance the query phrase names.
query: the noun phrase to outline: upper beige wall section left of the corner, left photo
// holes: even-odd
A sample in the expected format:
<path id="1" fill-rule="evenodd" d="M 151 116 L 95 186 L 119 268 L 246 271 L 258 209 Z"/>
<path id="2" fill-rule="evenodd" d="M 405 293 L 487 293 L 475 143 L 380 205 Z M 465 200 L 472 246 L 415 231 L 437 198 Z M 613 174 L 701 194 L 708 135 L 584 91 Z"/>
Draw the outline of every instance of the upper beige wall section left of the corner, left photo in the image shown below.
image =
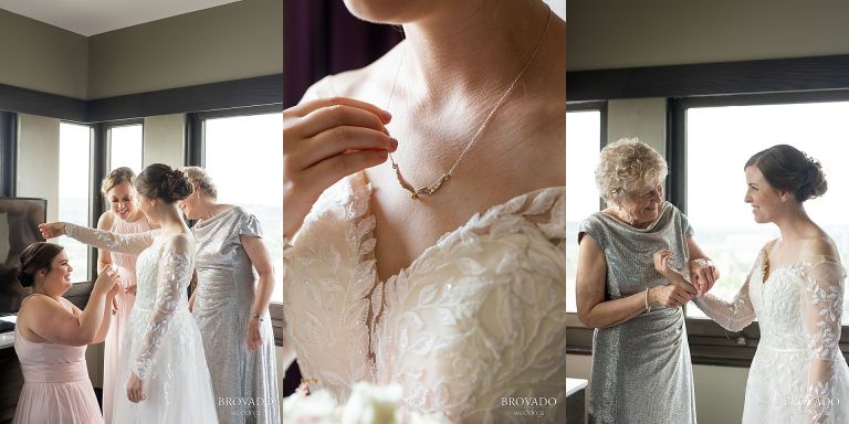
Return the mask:
<path id="1" fill-rule="evenodd" d="M 85 36 L 0 9 L 0 84 L 85 97 Z"/>

